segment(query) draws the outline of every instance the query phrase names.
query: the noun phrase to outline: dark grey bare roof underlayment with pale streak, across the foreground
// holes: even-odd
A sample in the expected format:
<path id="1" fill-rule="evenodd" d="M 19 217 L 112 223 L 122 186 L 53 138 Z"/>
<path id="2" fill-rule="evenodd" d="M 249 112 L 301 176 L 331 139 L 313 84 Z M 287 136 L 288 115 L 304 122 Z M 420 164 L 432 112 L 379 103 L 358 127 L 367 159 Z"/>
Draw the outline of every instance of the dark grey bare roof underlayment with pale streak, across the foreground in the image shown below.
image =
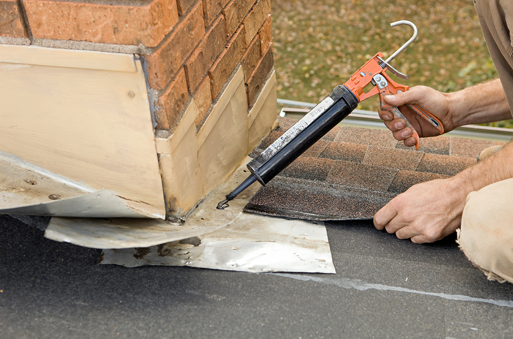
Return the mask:
<path id="1" fill-rule="evenodd" d="M 2 338 L 511 338 L 513 284 L 454 238 L 417 245 L 326 222 L 337 274 L 97 265 L 0 216 Z"/>

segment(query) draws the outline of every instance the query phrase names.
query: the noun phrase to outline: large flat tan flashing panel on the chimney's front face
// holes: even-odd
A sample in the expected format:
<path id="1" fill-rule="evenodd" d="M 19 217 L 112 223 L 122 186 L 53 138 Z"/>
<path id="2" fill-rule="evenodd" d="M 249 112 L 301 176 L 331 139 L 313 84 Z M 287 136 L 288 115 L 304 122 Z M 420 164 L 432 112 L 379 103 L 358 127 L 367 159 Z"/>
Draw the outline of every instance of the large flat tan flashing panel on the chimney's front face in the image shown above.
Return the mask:
<path id="1" fill-rule="evenodd" d="M 0 58 L 0 151 L 165 217 L 139 60 L 33 46 Z"/>

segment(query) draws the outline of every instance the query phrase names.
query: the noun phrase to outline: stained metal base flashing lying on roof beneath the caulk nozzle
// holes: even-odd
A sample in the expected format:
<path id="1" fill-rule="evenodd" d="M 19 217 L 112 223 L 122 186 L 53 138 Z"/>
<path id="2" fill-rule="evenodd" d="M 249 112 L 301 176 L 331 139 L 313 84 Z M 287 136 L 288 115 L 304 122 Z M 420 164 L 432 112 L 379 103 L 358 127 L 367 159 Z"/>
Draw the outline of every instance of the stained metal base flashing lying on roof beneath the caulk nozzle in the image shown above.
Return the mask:
<path id="1" fill-rule="evenodd" d="M 228 208 L 215 208 L 226 193 L 247 177 L 245 164 L 249 160 L 209 194 L 184 223 L 141 218 L 54 217 L 45 237 L 103 248 L 102 264 L 334 273 L 323 222 L 242 212 L 259 183 L 230 201 Z"/>

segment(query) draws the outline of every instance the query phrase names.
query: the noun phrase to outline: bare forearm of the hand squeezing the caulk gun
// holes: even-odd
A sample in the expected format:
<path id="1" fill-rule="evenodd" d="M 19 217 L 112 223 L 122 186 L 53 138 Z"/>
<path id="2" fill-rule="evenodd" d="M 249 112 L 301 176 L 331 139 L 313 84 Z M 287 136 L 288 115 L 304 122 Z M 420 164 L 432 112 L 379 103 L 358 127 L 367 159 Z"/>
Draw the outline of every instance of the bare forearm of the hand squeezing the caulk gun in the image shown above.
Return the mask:
<path id="1" fill-rule="evenodd" d="M 486 81 L 446 96 L 455 127 L 511 119 L 500 79 Z"/>

